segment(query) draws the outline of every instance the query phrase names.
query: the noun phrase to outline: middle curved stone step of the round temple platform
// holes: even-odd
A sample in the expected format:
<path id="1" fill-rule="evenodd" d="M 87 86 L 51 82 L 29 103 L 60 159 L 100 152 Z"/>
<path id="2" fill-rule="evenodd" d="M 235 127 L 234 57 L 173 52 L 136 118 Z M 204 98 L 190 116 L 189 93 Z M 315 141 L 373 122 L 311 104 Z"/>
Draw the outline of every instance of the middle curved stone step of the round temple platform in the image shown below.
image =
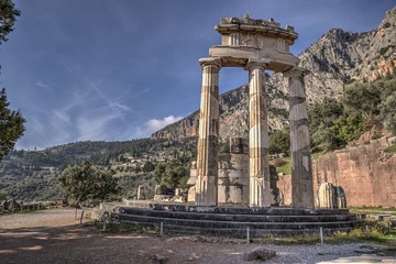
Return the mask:
<path id="1" fill-rule="evenodd" d="M 213 221 L 213 220 L 191 220 L 191 219 L 175 219 L 175 218 L 160 218 L 119 213 L 114 216 L 119 221 L 133 221 L 133 222 L 153 222 L 164 224 L 174 224 L 179 227 L 195 227 L 195 228 L 212 228 L 212 229 L 319 229 L 322 228 L 349 228 L 350 221 L 338 222 L 232 222 L 232 221 Z"/>

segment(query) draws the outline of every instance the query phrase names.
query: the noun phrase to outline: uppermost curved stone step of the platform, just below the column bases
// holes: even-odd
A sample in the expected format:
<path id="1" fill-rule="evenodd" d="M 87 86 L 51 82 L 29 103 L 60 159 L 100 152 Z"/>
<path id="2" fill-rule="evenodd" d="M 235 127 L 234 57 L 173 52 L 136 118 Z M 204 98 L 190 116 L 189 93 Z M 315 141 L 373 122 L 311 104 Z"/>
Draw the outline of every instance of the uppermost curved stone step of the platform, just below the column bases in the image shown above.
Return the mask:
<path id="1" fill-rule="evenodd" d="M 354 215 L 324 215 L 324 216 L 265 216 L 265 215 L 230 215 L 230 213 L 207 213 L 207 212 L 183 212 L 183 211 L 164 211 L 147 210 L 140 208 L 120 208 L 120 213 L 175 218 L 190 220 L 213 220 L 213 221 L 234 221 L 234 222 L 338 222 L 354 221 Z"/>

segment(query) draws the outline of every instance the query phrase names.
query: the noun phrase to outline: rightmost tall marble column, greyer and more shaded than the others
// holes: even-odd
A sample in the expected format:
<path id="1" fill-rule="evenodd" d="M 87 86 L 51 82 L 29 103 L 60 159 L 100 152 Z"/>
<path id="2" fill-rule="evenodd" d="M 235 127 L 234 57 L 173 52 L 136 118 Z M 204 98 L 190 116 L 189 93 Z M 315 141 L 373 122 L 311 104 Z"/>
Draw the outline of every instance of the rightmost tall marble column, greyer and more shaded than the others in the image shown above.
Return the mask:
<path id="1" fill-rule="evenodd" d="M 289 84 L 289 125 L 292 205 L 314 208 L 312 164 L 308 130 L 307 98 L 304 76 L 308 70 L 293 68 L 285 73 Z"/>

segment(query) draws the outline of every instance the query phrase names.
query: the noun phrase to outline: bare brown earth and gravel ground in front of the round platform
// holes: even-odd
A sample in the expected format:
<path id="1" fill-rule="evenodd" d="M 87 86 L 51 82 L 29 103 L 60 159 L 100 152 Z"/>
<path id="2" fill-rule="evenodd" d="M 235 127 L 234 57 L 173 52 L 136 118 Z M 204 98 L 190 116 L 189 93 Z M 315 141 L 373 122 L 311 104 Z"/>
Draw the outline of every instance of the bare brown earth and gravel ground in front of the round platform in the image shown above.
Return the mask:
<path id="1" fill-rule="evenodd" d="M 243 261 L 243 254 L 256 246 L 276 251 L 276 256 L 266 263 L 396 263 L 393 257 L 354 252 L 361 244 L 246 244 L 243 240 L 226 238 L 109 233 L 91 226 L 79 226 L 70 209 L 0 216 L 2 264 L 252 263 Z"/>

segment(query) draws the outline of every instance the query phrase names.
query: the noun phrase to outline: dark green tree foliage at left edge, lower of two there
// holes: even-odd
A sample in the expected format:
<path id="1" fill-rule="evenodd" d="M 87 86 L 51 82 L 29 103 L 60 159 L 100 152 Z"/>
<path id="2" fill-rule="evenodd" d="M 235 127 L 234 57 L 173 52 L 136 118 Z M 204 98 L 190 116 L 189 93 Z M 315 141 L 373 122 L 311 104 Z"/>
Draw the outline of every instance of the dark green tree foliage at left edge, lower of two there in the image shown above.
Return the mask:
<path id="1" fill-rule="evenodd" d="M 20 111 L 11 111 L 9 106 L 6 89 L 2 89 L 0 92 L 0 161 L 10 150 L 13 150 L 16 140 L 24 132 L 24 118 Z"/>

